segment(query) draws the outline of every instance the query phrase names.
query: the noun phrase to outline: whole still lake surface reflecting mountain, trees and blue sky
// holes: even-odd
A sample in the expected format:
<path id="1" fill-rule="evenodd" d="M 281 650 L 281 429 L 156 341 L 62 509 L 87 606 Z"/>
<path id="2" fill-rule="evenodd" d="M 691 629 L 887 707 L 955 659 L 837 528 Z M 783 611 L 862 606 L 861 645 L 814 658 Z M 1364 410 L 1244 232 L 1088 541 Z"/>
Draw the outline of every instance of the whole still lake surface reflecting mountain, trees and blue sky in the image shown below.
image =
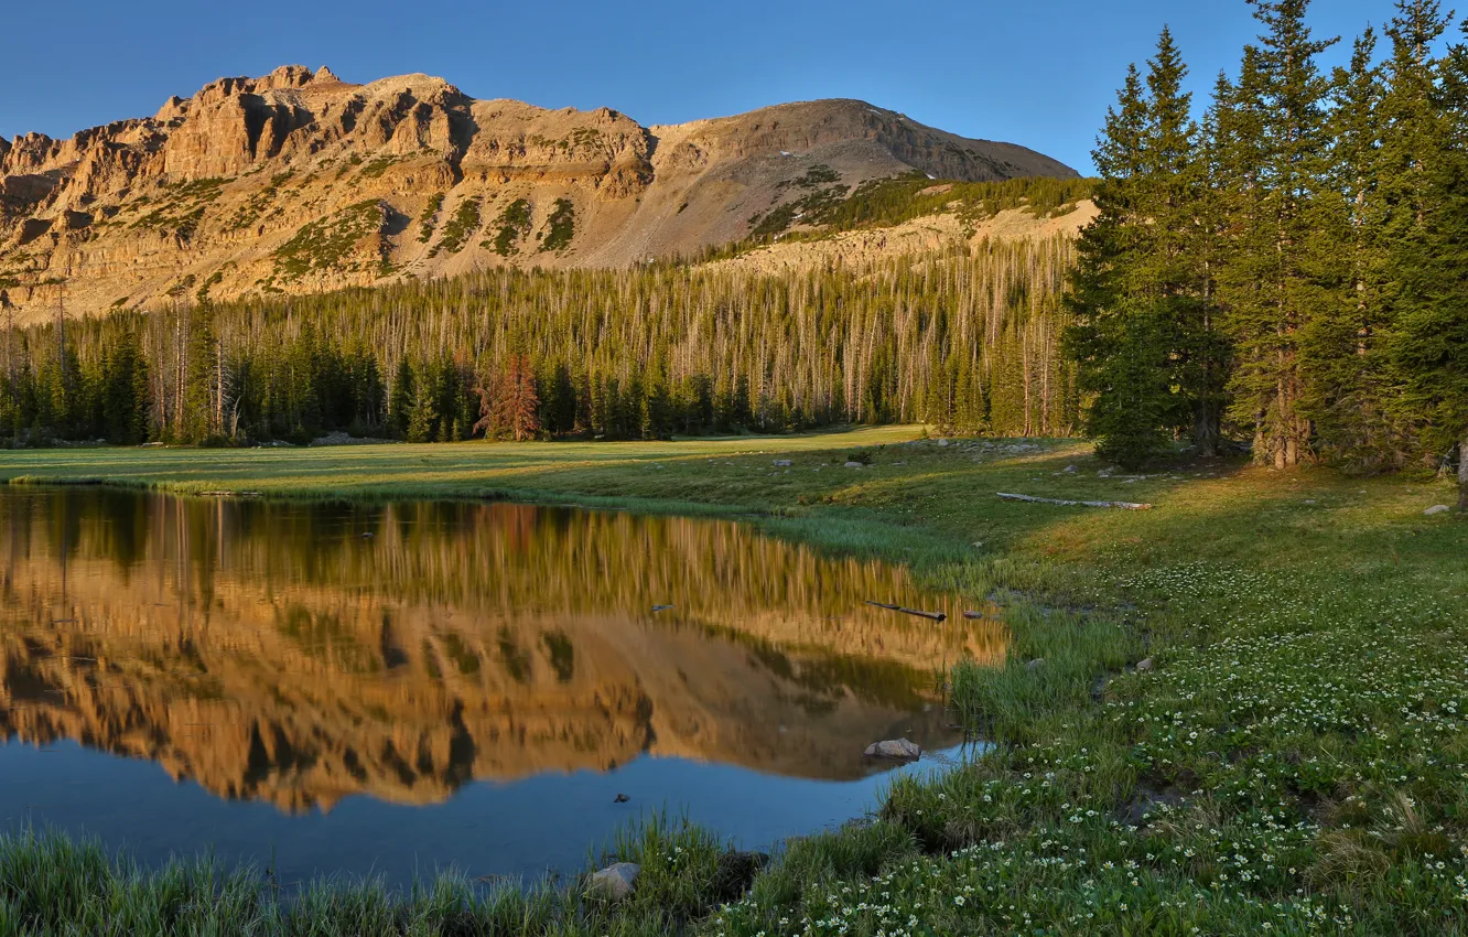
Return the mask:
<path id="1" fill-rule="evenodd" d="M 868 743 L 962 743 L 940 674 L 1006 640 L 901 567 L 509 504 L 12 489 L 0 576 L 0 828 L 288 883 L 578 871 L 664 808 L 837 825 L 893 777 Z"/>

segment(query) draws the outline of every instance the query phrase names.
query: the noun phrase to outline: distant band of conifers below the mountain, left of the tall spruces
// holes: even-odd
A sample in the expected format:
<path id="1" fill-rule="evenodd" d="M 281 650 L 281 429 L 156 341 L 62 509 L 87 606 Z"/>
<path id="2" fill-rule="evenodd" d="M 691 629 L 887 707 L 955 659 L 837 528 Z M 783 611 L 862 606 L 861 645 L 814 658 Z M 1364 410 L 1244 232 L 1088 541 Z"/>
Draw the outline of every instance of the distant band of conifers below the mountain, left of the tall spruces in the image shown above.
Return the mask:
<path id="1" fill-rule="evenodd" d="M 1075 244 L 780 276 L 517 272 L 51 322 L 7 336 L 0 433 L 230 445 L 329 432 L 650 439 L 925 420 L 1069 435 Z"/>

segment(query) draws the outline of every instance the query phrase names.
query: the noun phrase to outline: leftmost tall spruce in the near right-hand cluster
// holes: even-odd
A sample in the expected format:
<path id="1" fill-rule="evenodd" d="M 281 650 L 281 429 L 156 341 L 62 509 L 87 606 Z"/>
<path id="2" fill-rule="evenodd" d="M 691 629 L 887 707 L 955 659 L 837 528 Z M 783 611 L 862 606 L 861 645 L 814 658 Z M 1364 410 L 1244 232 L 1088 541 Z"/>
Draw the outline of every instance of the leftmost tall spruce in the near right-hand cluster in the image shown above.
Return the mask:
<path id="1" fill-rule="evenodd" d="M 1094 159 L 1098 219 L 1078 245 L 1066 347 L 1092 394 L 1086 423 L 1098 451 L 1124 466 L 1192 432 L 1205 454 L 1218 444 L 1220 345 L 1198 264 L 1205 164 L 1198 159 L 1188 69 L 1163 29 L 1107 115 Z"/>

